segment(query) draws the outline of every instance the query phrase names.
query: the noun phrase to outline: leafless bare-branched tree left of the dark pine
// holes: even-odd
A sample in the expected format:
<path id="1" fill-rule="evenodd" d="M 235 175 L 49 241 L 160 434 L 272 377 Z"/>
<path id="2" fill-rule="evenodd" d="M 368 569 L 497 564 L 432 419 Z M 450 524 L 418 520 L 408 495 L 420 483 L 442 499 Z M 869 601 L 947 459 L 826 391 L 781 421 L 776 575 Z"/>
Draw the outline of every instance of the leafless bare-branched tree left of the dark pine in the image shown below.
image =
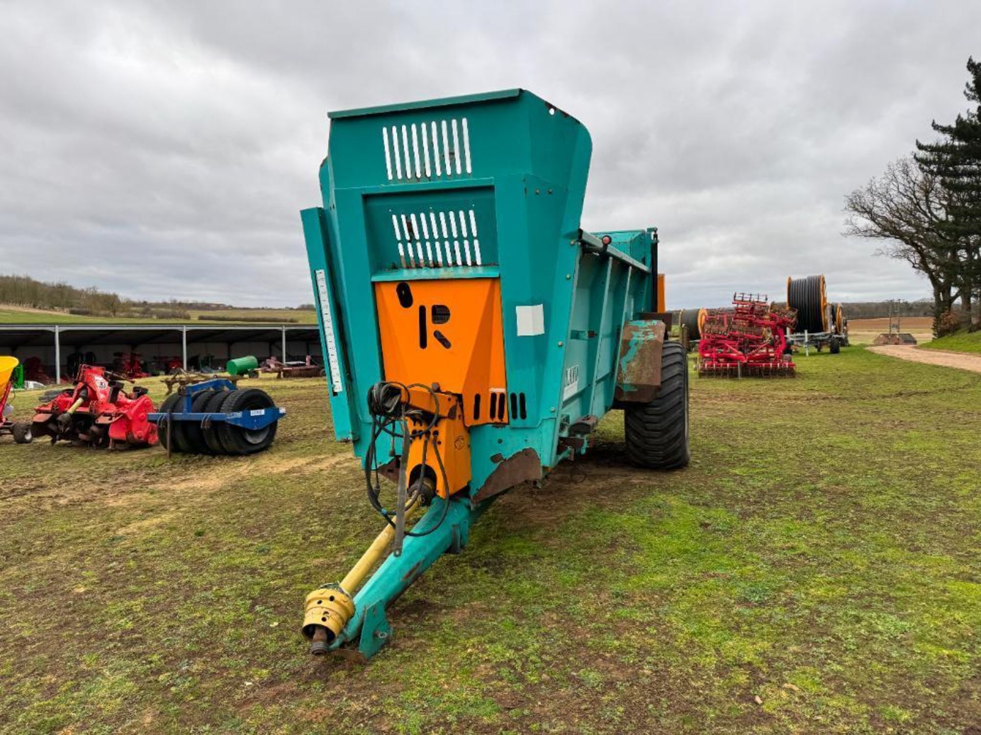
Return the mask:
<path id="1" fill-rule="evenodd" d="M 935 319 L 950 311 L 961 295 L 962 248 L 946 234 L 947 197 L 936 175 L 903 158 L 845 200 L 845 233 L 882 240 L 881 255 L 923 273 L 933 289 Z"/>

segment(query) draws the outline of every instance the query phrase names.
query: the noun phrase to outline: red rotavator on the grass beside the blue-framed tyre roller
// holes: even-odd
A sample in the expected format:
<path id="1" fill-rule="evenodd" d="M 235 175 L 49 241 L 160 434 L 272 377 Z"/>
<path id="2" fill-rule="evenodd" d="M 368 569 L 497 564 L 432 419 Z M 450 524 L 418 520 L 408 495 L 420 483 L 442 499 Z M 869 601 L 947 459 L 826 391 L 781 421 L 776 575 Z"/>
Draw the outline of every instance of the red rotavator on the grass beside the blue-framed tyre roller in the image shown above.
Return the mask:
<path id="1" fill-rule="evenodd" d="M 106 368 L 80 366 L 74 388 L 34 410 L 34 436 L 50 436 L 52 444 L 66 439 L 93 447 L 156 444 L 157 426 L 147 420 L 153 402 L 142 386 L 127 393 L 124 379 Z"/>

